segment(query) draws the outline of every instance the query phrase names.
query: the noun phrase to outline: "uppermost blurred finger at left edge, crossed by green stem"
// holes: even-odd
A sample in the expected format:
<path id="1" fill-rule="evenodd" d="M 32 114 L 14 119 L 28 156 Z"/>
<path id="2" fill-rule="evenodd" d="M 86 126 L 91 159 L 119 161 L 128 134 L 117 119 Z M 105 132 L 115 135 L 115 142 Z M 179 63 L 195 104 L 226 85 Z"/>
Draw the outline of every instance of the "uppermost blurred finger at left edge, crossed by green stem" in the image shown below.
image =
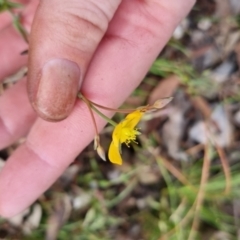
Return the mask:
<path id="1" fill-rule="evenodd" d="M 27 30 L 30 30 L 31 21 L 38 1 L 32 1 L 23 10 L 21 21 Z M 27 63 L 27 56 L 21 52 L 28 49 L 28 44 L 13 24 L 9 24 L 0 31 L 0 80 L 15 73 Z"/>

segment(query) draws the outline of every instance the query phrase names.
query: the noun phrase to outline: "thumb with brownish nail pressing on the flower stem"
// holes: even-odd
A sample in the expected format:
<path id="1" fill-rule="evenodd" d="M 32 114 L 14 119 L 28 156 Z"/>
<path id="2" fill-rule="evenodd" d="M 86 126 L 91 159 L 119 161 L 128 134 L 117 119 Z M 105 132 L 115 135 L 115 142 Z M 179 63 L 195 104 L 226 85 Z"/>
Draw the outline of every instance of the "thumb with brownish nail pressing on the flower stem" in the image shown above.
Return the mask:
<path id="1" fill-rule="evenodd" d="M 29 47 L 28 94 L 40 117 L 71 112 L 89 62 L 121 0 L 42 0 Z"/>

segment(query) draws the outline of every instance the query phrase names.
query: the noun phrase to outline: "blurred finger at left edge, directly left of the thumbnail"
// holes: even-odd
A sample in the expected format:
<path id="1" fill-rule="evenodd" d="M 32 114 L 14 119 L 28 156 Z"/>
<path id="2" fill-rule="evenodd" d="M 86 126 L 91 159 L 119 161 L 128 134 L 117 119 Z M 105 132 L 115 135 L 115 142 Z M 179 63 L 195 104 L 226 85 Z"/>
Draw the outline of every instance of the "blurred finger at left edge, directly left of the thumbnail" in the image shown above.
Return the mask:
<path id="1" fill-rule="evenodd" d="M 26 79 L 23 79 L 0 98 L 0 149 L 25 136 L 36 117 L 27 97 Z"/>

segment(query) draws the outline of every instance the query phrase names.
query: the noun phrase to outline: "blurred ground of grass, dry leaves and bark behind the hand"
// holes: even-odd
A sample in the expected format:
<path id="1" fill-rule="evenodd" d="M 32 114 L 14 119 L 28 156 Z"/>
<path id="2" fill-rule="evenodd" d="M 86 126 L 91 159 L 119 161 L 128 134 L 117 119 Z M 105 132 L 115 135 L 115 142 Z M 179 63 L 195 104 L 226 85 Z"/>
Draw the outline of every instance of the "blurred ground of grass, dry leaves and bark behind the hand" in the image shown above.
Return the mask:
<path id="1" fill-rule="evenodd" d="M 239 70 L 240 1 L 197 1 L 122 106 L 174 97 L 145 115 L 123 165 L 91 144 L 31 207 L 0 219 L 0 239 L 240 239 Z M 0 167 L 21 141 L 0 152 Z"/>

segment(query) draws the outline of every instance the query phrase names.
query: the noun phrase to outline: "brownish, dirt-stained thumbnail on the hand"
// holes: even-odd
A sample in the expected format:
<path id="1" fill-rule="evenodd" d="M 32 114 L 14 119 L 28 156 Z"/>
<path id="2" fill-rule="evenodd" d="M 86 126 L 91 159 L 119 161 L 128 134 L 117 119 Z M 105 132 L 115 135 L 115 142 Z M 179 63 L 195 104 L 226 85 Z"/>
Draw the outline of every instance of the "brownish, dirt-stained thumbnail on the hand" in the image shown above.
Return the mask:
<path id="1" fill-rule="evenodd" d="M 45 63 L 33 102 L 39 116 L 48 121 L 66 118 L 76 101 L 79 81 L 80 68 L 75 62 L 56 58 Z"/>

